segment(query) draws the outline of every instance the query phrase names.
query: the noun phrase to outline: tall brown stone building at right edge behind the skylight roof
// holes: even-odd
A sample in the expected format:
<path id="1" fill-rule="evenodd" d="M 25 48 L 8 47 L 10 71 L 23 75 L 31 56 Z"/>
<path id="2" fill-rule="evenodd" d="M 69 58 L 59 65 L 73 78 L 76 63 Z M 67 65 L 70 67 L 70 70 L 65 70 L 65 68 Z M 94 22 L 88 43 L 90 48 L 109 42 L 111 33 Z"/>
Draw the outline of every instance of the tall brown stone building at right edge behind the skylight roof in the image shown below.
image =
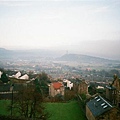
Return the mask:
<path id="1" fill-rule="evenodd" d="M 106 98 L 120 108 L 120 78 L 114 75 L 112 84 L 106 86 Z"/>

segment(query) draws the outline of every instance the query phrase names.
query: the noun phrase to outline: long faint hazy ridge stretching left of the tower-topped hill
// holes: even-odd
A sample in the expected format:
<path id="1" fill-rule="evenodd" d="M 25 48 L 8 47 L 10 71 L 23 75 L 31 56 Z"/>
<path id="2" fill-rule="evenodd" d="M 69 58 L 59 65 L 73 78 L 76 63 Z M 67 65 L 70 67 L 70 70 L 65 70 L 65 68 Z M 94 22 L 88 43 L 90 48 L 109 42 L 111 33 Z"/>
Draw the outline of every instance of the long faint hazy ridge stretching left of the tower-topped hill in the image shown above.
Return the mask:
<path id="1" fill-rule="evenodd" d="M 39 59 L 39 58 L 52 58 L 58 57 L 56 51 L 50 50 L 7 50 L 0 48 L 0 59 Z"/>

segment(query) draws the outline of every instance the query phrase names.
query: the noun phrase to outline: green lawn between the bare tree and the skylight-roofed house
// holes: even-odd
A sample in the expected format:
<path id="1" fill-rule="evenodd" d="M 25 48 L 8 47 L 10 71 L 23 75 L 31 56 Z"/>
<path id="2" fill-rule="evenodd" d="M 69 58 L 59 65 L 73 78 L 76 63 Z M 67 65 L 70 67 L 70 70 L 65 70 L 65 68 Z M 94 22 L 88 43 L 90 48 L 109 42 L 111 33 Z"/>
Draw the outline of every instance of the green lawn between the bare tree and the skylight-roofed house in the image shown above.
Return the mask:
<path id="1" fill-rule="evenodd" d="M 47 103 L 46 109 L 51 115 L 49 120 L 86 120 L 77 101 L 68 103 Z"/>

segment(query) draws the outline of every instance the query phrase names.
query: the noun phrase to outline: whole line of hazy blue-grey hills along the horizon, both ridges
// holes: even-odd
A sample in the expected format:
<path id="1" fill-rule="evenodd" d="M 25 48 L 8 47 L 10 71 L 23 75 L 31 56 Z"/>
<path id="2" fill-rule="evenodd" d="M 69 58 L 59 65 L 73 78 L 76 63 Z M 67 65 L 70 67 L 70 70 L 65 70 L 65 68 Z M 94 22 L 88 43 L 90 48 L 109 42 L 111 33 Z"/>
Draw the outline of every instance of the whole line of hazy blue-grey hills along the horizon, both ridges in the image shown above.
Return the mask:
<path id="1" fill-rule="evenodd" d="M 61 57 L 57 51 L 34 49 L 34 50 L 7 50 L 0 48 L 0 59 L 25 59 L 25 60 L 35 60 L 35 59 L 53 59 L 57 61 L 73 61 L 82 63 L 111 63 L 116 62 L 115 60 L 104 59 L 100 57 L 93 57 L 89 55 L 82 54 L 65 54 Z M 59 58 L 58 58 L 59 57 Z"/>

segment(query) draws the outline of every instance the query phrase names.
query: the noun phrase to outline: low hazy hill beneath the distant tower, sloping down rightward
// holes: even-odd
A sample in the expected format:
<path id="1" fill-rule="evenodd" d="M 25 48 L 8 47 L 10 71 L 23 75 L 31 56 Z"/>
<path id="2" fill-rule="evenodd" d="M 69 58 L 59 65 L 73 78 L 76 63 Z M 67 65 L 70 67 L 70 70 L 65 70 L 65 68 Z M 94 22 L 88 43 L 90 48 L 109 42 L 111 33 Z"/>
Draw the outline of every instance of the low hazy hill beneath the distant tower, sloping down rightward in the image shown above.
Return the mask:
<path id="1" fill-rule="evenodd" d="M 114 60 L 104 59 L 100 57 L 93 57 L 82 54 L 65 54 L 62 57 L 57 58 L 58 61 L 75 61 L 82 63 L 109 63 L 115 62 Z"/>

